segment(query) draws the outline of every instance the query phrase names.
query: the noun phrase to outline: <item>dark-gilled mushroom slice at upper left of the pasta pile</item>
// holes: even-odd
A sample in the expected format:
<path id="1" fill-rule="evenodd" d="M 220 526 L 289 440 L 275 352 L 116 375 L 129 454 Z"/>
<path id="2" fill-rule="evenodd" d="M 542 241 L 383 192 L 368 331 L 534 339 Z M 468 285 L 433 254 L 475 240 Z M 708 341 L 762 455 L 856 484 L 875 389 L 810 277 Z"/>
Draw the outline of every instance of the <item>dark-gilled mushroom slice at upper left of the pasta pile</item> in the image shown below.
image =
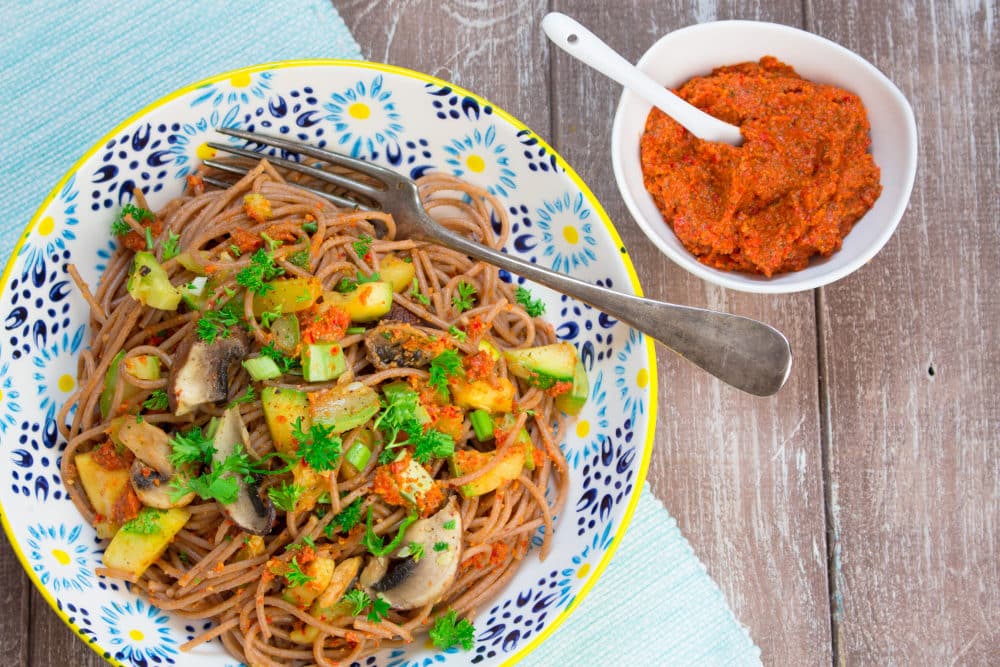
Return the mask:
<path id="1" fill-rule="evenodd" d="M 199 405 L 224 400 L 229 395 L 229 367 L 242 360 L 246 351 L 246 341 L 238 332 L 211 343 L 192 332 L 170 368 L 167 401 L 171 411 L 186 415 Z"/>

